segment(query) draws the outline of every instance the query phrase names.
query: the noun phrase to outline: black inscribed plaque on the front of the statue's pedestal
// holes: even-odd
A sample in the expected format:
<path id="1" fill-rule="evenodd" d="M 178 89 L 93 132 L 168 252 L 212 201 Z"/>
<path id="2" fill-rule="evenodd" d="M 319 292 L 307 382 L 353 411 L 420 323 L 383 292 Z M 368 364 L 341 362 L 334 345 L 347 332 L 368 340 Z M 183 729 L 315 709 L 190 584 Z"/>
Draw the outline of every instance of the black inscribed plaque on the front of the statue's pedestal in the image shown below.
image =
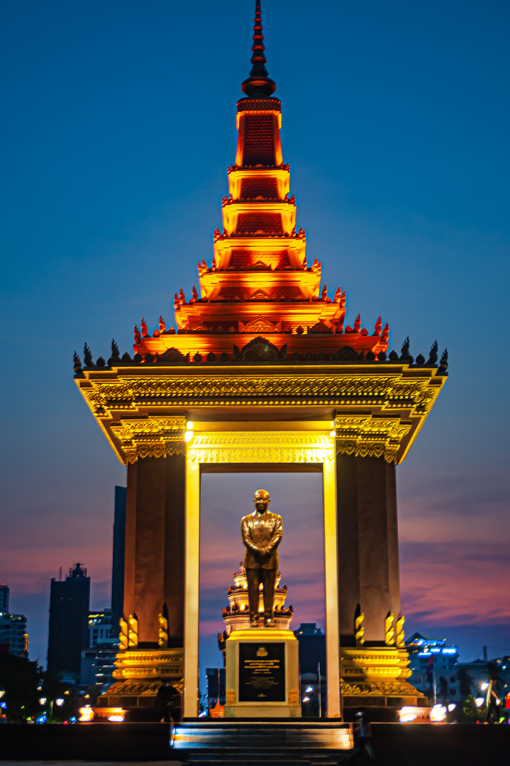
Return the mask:
<path id="1" fill-rule="evenodd" d="M 239 644 L 239 702 L 285 702 L 285 644 Z"/>

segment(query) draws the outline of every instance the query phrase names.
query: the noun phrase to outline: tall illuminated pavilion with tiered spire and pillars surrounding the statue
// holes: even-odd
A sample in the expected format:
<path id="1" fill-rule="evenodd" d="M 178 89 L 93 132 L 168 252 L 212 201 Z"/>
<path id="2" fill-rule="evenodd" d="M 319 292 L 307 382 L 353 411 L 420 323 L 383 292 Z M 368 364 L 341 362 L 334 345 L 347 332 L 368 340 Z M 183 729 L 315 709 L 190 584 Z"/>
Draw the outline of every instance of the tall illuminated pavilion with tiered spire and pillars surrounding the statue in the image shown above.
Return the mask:
<path id="1" fill-rule="evenodd" d="M 75 354 L 75 380 L 127 466 L 126 577 L 116 684 L 124 707 L 182 684 L 197 715 L 200 477 L 319 471 L 323 477 L 327 715 L 417 702 L 400 614 L 395 466 L 446 380 L 425 358 L 388 353 L 387 322 L 346 321 L 306 260 L 280 144 L 256 4 L 250 77 L 222 227 L 199 289 L 175 293 L 175 326 L 135 326 L 134 358 Z M 297 594 L 295 594 L 297 597 Z"/>

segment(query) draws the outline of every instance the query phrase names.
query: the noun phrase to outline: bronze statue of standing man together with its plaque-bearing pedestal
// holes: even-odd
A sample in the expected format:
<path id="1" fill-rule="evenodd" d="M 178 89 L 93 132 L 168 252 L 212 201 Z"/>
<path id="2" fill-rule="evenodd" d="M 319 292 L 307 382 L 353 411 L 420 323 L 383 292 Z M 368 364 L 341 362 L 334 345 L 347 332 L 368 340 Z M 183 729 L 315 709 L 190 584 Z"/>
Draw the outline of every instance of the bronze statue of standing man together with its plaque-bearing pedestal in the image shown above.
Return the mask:
<path id="1" fill-rule="evenodd" d="M 225 717 L 299 718 L 298 643 L 292 630 L 276 629 L 273 617 L 282 517 L 270 512 L 266 489 L 257 489 L 253 502 L 253 513 L 241 519 L 250 627 L 232 631 L 225 642 Z M 259 627 L 260 588 L 263 628 Z"/>

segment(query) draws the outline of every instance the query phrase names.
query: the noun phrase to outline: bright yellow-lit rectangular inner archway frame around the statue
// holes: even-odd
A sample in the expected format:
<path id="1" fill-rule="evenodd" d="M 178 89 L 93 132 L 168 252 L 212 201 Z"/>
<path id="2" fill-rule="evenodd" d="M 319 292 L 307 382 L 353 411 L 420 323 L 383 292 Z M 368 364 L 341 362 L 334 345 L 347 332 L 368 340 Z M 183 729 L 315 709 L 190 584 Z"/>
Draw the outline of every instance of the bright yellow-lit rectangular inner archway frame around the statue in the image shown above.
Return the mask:
<path id="1" fill-rule="evenodd" d="M 186 456 L 186 591 L 184 715 L 194 716 L 198 689 L 198 625 L 200 592 L 200 479 L 206 470 L 246 472 L 265 470 L 322 472 L 324 523 L 326 676 L 328 717 L 340 716 L 340 654 L 338 636 L 338 547 L 336 524 L 336 453 L 331 425 L 286 423 L 286 430 L 259 430 L 260 424 L 208 424 L 211 430 L 195 434 Z M 246 430 L 243 429 L 243 426 Z M 329 426 L 329 430 L 326 430 Z M 322 427 L 322 428 L 321 428 Z"/>

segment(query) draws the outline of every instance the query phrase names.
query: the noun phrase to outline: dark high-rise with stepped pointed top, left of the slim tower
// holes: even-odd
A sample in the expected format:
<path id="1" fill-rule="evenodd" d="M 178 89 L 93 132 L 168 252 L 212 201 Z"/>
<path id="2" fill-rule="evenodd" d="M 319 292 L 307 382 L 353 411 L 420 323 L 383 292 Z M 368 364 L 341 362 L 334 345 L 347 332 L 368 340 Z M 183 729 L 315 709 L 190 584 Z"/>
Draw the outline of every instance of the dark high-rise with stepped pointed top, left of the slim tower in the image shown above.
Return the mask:
<path id="1" fill-rule="evenodd" d="M 90 577 L 79 563 L 65 580 L 51 580 L 47 669 L 80 676 L 81 653 L 89 646 Z"/>

